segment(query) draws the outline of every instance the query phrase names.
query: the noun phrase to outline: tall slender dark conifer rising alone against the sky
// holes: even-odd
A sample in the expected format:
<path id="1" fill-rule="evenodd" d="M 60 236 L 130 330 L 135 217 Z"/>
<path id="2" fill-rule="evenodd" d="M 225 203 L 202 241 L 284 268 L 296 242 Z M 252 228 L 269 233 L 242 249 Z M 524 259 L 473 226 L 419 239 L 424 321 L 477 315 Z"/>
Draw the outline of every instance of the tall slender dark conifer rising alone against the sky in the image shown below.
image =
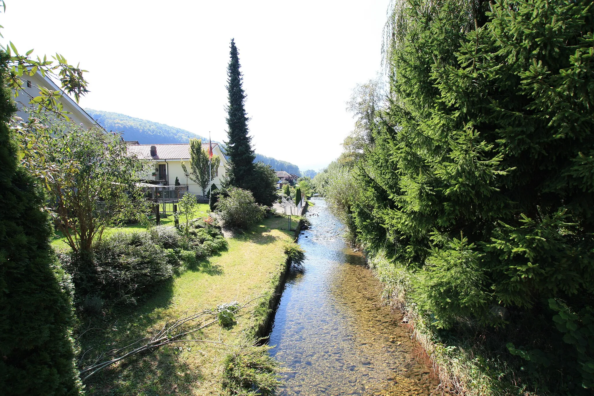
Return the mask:
<path id="1" fill-rule="evenodd" d="M 245 113 L 245 93 L 242 87 L 243 77 L 239 68 L 239 54 L 235 40 L 231 39 L 231 59 L 227 68 L 227 90 L 229 106 L 227 109 L 227 125 L 229 141 L 226 142 L 226 154 L 229 156 L 229 184 L 249 189 L 252 185 L 256 154 L 251 147 L 252 138 L 248 136 L 248 116 Z"/>

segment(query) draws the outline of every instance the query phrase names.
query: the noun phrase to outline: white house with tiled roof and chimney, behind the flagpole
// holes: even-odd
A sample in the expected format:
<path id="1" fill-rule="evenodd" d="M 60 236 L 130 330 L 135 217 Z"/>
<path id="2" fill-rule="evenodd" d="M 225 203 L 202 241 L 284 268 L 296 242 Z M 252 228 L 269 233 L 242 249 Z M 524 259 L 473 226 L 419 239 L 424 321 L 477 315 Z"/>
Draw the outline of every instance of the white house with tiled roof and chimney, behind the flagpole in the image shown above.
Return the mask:
<path id="1" fill-rule="evenodd" d="M 189 143 L 138 144 L 137 141 L 127 141 L 126 143 L 129 155 L 135 155 L 139 159 L 150 161 L 149 173 L 142 177 L 144 180 L 159 185 L 172 186 L 175 183 L 175 178 L 178 178 L 182 185 L 188 186 L 189 192 L 194 195 L 202 195 L 202 188 L 192 179 L 187 178 L 182 169 L 182 161 L 184 161 L 186 168 L 190 170 Z M 208 143 L 203 143 L 202 148 L 208 150 Z M 213 154 L 219 156 L 221 162 L 217 169 L 212 170 L 212 183 L 217 188 L 221 188 L 227 161 L 218 143 L 213 143 Z M 208 186 L 206 191 L 208 192 Z"/>

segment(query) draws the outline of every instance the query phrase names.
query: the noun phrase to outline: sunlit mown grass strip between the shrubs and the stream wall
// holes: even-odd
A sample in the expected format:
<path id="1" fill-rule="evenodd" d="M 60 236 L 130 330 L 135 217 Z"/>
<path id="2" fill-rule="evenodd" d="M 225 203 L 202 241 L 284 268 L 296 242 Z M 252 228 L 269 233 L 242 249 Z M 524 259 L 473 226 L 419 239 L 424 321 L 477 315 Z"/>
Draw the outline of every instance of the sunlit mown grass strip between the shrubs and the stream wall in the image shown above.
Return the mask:
<path id="1" fill-rule="evenodd" d="M 148 332 L 160 330 L 165 321 L 233 300 L 245 302 L 271 294 L 285 266 L 283 245 L 292 240 L 286 220 L 267 218 L 251 231 L 229 239 L 228 251 L 162 284 L 135 308 L 119 309 L 81 322 L 78 341 L 81 354 L 86 353 L 81 366 L 92 363 L 103 350 L 125 346 Z M 192 337 L 226 344 L 239 344 L 245 338 L 251 342 L 262 311 L 262 305 L 255 304 L 241 312 L 232 328 L 214 325 Z M 87 391 L 94 395 L 225 394 L 219 384 L 222 362 L 233 350 L 204 343 L 162 347 L 91 377 Z"/>

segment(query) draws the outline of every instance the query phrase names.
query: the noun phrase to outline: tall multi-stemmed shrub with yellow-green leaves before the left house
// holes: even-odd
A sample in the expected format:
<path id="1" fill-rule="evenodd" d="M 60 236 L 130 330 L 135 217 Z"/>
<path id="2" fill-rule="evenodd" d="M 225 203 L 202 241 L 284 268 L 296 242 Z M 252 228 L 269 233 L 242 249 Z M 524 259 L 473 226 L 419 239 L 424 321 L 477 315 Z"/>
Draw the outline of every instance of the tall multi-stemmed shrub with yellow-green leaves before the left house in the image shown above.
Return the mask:
<path id="1" fill-rule="evenodd" d="M 48 113 L 14 120 L 11 128 L 21 163 L 45 188 L 47 209 L 73 251 L 90 251 L 106 227 L 146 220 L 150 202 L 134 183 L 145 164 L 127 155 L 119 135 Z"/>

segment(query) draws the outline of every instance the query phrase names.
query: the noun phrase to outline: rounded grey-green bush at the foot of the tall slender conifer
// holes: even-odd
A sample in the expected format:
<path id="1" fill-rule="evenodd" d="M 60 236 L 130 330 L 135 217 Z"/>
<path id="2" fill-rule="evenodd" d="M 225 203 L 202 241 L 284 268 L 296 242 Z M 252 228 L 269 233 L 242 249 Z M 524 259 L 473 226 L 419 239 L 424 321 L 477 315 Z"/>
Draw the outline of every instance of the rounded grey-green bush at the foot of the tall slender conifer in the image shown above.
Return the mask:
<path id="1" fill-rule="evenodd" d="M 231 187 L 229 197 L 220 197 L 217 212 L 226 226 L 247 229 L 264 218 L 266 207 L 255 203 L 251 192 Z"/>

